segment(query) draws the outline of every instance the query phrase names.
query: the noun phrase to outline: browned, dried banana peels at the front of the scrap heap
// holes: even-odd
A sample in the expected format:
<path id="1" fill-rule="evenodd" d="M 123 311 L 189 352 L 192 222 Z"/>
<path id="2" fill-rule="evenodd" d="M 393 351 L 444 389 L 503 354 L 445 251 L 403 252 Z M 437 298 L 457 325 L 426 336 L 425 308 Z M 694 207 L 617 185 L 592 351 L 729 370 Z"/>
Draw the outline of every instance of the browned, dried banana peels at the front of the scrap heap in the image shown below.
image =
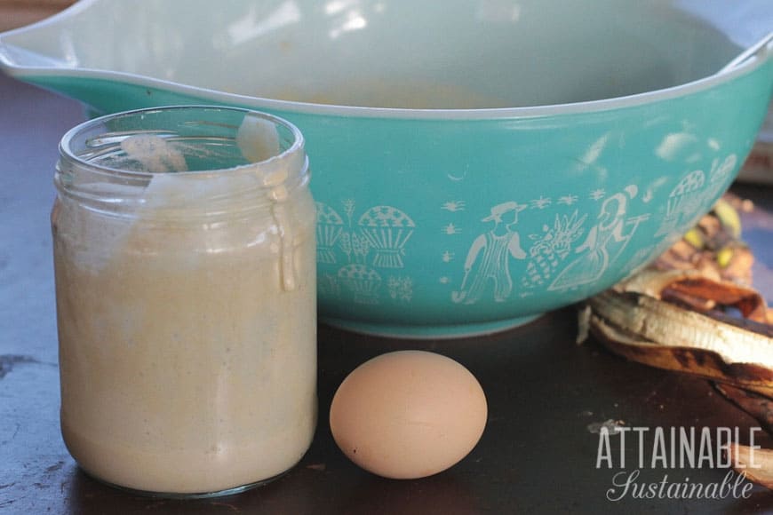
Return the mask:
<path id="1" fill-rule="evenodd" d="M 663 291 L 680 284 L 681 275 L 689 279 L 676 290 L 691 294 L 693 273 L 661 273 L 652 281 L 642 276 L 591 297 L 581 312 L 580 332 L 593 334 L 629 361 L 713 381 L 727 400 L 773 434 L 773 325 L 769 311 L 761 308 L 764 301 L 746 287 L 731 284 L 724 290 L 721 283 L 705 278 L 698 281 L 701 295 L 730 302 L 760 321 L 722 320 L 716 313 L 710 316 L 663 300 Z M 730 463 L 740 464 L 735 467 L 738 473 L 773 489 L 773 450 L 755 449 L 755 458 L 761 456 L 762 461 L 754 469 L 744 464 L 751 456 L 749 448 L 736 443 L 729 453 Z"/>

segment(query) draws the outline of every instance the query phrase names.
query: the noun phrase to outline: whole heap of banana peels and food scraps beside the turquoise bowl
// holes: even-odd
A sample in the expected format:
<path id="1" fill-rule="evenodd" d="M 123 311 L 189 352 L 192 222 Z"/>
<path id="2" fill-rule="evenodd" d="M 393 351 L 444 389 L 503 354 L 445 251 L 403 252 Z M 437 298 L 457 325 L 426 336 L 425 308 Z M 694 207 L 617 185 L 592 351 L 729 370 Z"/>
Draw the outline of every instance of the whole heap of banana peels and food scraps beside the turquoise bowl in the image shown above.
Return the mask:
<path id="1" fill-rule="evenodd" d="M 773 310 L 751 285 L 740 234 L 737 212 L 718 202 L 648 269 L 589 298 L 578 341 L 593 334 L 630 361 L 711 380 L 773 434 Z M 738 444 L 729 452 L 733 463 L 749 456 Z M 773 489 L 773 450 L 755 456 L 764 463 L 745 476 Z"/>

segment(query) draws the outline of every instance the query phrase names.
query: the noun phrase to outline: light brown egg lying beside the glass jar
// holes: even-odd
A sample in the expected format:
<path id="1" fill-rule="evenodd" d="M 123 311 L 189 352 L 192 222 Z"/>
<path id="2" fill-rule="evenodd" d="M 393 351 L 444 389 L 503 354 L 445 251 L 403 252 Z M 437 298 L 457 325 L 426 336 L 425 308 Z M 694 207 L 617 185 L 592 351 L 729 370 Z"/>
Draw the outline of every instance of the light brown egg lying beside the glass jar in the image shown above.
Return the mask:
<path id="1" fill-rule="evenodd" d="M 477 379 L 437 353 L 400 351 L 366 361 L 331 404 L 331 432 L 355 464 L 416 479 L 457 464 L 475 447 L 488 407 Z"/>

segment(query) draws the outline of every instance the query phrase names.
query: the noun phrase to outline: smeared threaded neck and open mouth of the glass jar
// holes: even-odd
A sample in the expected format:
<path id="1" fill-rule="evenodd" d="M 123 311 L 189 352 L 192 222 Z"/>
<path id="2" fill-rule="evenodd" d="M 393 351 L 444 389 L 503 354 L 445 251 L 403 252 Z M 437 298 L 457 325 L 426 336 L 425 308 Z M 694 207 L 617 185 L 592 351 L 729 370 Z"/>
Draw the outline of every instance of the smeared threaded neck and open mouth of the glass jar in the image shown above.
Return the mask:
<path id="1" fill-rule="evenodd" d="M 140 109 L 68 131 L 55 182 L 60 191 L 109 210 L 250 209 L 261 199 L 284 202 L 307 183 L 303 147 L 295 126 L 264 113 L 207 106 Z"/>

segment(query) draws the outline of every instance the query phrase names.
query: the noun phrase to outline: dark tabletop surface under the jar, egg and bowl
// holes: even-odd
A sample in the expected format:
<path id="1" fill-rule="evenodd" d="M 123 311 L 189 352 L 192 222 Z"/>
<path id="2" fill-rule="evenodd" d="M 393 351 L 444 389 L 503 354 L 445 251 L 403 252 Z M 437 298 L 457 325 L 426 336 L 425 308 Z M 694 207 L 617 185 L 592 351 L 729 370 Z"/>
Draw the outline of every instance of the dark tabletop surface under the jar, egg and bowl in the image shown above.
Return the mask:
<path id="1" fill-rule="evenodd" d="M 758 424 L 704 380 L 627 362 L 589 341 L 575 345 L 573 308 L 520 329 L 456 341 L 400 341 L 321 327 L 320 423 L 307 456 L 282 479 L 255 490 L 202 501 L 129 495 L 79 471 L 60 437 L 59 376 L 49 210 L 60 136 L 83 120 L 76 102 L 0 75 L 0 513 L 758 513 L 773 494 L 748 499 L 607 499 L 616 473 L 636 470 L 637 444 L 626 441 L 626 469 L 596 469 L 598 434 L 607 420 L 627 426 L 739 428 Z M 736 186 L 756 209 L 745 239 L 758 263 L 758 285 L 773 297 L 773 190 Z M 457 359 L 479 378 L 490 416 L 482 440 L 460 464 L 434 477 L 396 481 L 358 469 L 336 448 L 327 424 L 335 388 L 379 353 L 427 349 Z M 763 447 L 769 444 L 757 433 Z M 618 459 L 618 437 L 612 454 Z M 651 448 L 652 440 L 645 441 Z M 649 456 L 649 454 L 647 454 Z M 649 458 L 648 458 L 649 459 Z M 719 483 L 728 470 L 641 470 L 642 483 Z"/>

